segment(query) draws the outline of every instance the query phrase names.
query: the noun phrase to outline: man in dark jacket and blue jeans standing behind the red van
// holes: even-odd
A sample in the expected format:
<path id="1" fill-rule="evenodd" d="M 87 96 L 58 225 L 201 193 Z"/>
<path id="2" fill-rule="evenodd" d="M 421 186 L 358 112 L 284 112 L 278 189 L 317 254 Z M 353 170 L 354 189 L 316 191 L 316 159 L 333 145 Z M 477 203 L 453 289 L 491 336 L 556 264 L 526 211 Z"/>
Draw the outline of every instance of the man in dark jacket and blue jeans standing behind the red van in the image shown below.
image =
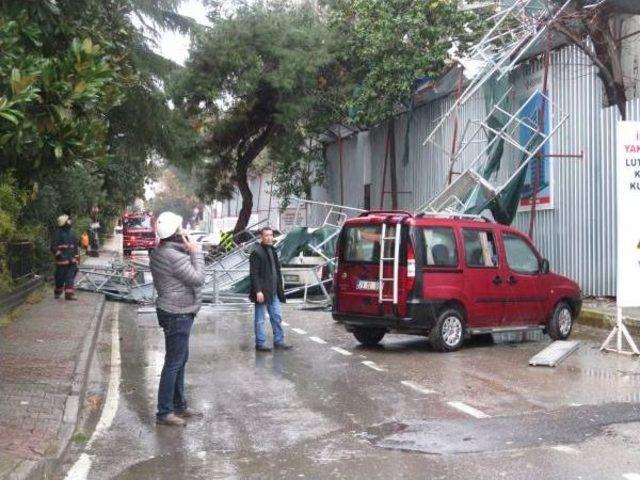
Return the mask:
<path id="1" fill-rule="evenodd" d="M 291 345 L 284 341 L 282 330 L 282 311 L 280 303 L 284 303 L 284 287 L 278 253 L 273 248 L 273 230 L 265 227 L 260 231 L 260 244 L 249 257 L 251 292 L 249 299 L 255 303 L 254 327 L 256 332 L 256 350 L 268 352 L 267 335 L 264 328 L 265 315 L 269 312 L 273 329 L 273 348 L 288 350 Z"/>

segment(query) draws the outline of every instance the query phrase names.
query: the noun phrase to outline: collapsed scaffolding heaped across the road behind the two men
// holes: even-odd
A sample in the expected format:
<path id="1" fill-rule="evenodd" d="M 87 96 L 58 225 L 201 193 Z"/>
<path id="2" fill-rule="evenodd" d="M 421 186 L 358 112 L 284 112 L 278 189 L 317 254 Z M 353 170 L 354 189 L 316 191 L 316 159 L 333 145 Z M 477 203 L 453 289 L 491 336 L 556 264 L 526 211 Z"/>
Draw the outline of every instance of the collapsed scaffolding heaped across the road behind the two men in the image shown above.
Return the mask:
<path id="1" fill-rule="evenodd" d="M 329 284 L 335 268 L 335 246 L 340 228 L 348 218 L 363 210 L 297 198 L 290 204 L 295 205 L 294 221 L 276 238 L 274 245 L 285 280 L 288 276 L 298 278 L 298 284 L 287 288 L 285 295 L 288 298 L 301 296 L 299 301 L 303 304 L 329 306 Z M 265 221 L 250 225 L 234 236 L 229 251 L 208 258 L 202 289 L 205 303 L 248 303 L 249 257 L 260 240 L 252 232 L 264 225 Z M 247 240 L 239 241 L 241 238 Z M 126 261 L 117 257 L 107 266 L 81 266 L 77 288 L 104 293 L 112 300 L 143 305 L 154 303 L 156 296 L 148 264 L 135 258 Z"/>

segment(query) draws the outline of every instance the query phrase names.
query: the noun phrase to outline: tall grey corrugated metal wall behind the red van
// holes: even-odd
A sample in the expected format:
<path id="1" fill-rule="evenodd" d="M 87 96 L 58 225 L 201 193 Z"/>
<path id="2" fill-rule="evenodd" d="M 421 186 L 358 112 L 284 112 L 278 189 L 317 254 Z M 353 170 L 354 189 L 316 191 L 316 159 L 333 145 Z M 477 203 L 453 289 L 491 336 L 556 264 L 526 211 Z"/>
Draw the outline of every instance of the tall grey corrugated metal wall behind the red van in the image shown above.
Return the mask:
<path id="1" fill-rule="evenodd" d="M 551 160 L 553 208 L 536 215 L 534 241 L 558 273 L 575 278 L 588 295 L 615 295 L 615 139 L 618 112 L 603 108 L 600 80 L 591 62 L 577 48 L 567 47 L 552 57 L 550 94 L 554 104 L 570 115 L 551 141 L 553 154 L 576 154 L 582 159 Z M 540 63 L 523 68 L 534 73 Z M 423 146 L 427 132 L 448 110 L 453 96 L 421 106 L 414 112 L 409 132 L 409 161 L 403 164 L 406 116 L 396 120 L 398 189 L 400 208 L 413 209 L 442 190 L 446 184 L 448 158 L 432 146 Z M 551 112 L 552 124 L 555 120 Z M 485 116 L 481 95 L 467 102 L 460 113 L 460 128 L 467 119 Z M 640 100 L 629 102 L 628 120 L 640 120 Z M 383 184 L 386 126 L 342 141 L 343 204 L 364 207 L 364 181 L 370 168 L 372 208 L 380 207 Z M 450 146 L 453 129 L 444 128 L 437 139 Z M 477 154 L 470 148 L 457 170 L 462 171 Z M 472 151 L 474 150 L 475 151 Z M 327 148 L 326 197 L 341 201 L 339 145 Z M 366 153 L 363 153 L 366 152 Z M 370 155 L 370 160 L 367 158 Z M 370 162 L 370 166 L 369 166 Z M 387 173 L 385 190 L 390 190 Z M 384 208 L 391 206 L 384 195 Z M 528 230 L 529 213 L 518 213 L 514 225 Z"/>

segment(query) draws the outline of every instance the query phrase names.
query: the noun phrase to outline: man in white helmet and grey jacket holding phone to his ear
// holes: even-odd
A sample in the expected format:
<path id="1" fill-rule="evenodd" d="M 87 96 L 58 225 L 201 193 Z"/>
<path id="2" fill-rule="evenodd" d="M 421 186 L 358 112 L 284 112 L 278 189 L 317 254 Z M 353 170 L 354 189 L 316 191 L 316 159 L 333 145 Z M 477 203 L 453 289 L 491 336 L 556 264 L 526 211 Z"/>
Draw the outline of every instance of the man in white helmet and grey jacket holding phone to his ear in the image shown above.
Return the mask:
<path id="1" fill-rule="evenodd" d="M 160 245 L 149 256 L 153 284 L 158 292 L 156 311 L 164 330 L 165 357 L 158 388 L 156 421 L 184 426 L 185 418 L 201 413 L 187 407 L 184 370 L 189 358 L 189 336 L 202 305 L 204 256 L 200 246 L 182 232 L 182 217 L 172 212 L 158 216 Z"/>

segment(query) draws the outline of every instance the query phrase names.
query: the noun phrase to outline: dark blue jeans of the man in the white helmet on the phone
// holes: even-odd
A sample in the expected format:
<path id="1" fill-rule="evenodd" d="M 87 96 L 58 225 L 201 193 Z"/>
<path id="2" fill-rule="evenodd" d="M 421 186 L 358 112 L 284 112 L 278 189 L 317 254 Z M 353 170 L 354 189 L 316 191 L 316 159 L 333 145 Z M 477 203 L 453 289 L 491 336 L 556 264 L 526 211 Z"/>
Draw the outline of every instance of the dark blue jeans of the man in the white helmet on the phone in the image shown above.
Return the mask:
<path id="1" fill-rule="evenodd" d="M 167 313 L 158 309 L 158 323 L 164 330 L 164 366 L 158 388 L 158 413 L 161 417 L 187 408 L 184 398 L 184 367 L 189 359 L 189 334 L 192 313 Z"/>

